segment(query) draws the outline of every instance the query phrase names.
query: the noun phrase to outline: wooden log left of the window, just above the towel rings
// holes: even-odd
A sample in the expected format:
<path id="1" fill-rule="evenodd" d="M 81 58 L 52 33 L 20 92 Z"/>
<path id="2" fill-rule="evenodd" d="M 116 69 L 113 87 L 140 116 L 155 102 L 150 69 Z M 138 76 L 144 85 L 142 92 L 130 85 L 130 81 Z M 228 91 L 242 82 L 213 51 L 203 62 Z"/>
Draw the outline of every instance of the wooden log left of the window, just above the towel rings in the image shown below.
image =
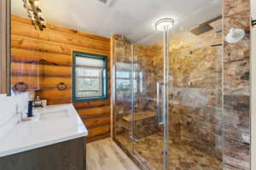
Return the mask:
<path id="1" fill-rule="evenodd" d="M 11 63 L 12 76 L 71 77 L 70 66 Z"/>

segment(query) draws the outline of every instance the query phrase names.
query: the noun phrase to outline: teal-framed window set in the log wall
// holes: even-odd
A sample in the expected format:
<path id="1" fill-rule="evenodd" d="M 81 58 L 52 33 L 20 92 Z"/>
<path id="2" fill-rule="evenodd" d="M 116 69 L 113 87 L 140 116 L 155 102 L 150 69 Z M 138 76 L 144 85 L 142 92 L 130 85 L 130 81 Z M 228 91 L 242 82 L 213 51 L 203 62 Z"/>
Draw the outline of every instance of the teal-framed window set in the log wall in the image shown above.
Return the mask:
<path id="1" fill-rule="evenodd" d="M 107 99 L 107 56 L 73 52 L 73 101 Z"/>

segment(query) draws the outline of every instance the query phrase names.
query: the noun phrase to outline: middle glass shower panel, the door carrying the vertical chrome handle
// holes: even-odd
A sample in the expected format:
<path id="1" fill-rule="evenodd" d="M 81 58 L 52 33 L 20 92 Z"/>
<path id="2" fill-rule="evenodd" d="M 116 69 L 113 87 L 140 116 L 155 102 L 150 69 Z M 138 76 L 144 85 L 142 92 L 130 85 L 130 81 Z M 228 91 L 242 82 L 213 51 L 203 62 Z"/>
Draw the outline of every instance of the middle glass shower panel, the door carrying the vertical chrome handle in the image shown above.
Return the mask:
<path id="1" fill-rule="evenodd" d="M 150 46 L 133 47 L 132 153 L 148 169 L 163 170 L 163 69 L 154 69 L 157 57 L 162 59 L 163 54 Z"/>

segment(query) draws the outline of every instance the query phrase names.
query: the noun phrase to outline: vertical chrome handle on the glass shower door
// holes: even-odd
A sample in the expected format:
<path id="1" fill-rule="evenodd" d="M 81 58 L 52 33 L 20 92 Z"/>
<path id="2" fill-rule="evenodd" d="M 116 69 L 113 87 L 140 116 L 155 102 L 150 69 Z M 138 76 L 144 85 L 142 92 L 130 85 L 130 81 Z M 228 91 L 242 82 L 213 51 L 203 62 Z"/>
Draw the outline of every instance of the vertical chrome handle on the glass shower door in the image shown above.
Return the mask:
<path id="1" fill-rule="evenodd" d="M 163 125 L 164 124 L 164 111 L 165 111 L 165 105 L 163 103 L 163 99 L 160 100 L 160 92 L 163 88 L 164 83 L 163 82 L 157 82 L 156 83 L 156 116 L 157 116 L 157 124 Z M 161 105 L 161 108 L 160 108 Z"/>

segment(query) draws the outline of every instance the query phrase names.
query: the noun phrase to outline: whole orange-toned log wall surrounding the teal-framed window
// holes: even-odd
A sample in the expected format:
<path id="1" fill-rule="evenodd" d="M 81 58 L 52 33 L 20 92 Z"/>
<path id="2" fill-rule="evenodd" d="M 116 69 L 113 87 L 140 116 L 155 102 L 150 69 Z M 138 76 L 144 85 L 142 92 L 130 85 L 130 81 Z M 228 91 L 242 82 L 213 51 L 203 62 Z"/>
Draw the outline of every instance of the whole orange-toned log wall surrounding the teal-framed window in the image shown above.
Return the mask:
<path id="1" fill-rule="evenodd" d="M 30 20 L 12 15 L 12 83 L 26 82 L 30 89 L 39 89 L 36 95 L 47 99 L 49 105 L 72 102 L 73 51 L 103 54 L 109 58 L 110 39 L 50 24 L 44 31 L 36 31 Z M 58 90 L 59 82 L 65 82 L 67 89 Z M 110 135 L 109 97 L 73 105 L 89 129 L 89 142 Z"/>

